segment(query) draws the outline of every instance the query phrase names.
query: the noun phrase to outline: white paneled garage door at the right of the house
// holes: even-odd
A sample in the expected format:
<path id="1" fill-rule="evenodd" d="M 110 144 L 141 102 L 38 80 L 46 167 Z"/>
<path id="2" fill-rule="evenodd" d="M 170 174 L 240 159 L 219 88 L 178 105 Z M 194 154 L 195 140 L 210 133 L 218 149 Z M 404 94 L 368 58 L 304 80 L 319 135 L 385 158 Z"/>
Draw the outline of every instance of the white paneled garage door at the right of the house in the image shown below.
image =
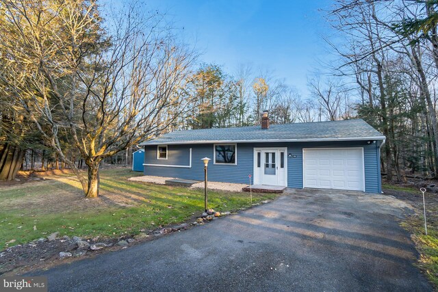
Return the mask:
<path id="1" fill-rule="evenodd" d="M 363 148 L 303 149 L 304 187 L 365 191 Z"/>

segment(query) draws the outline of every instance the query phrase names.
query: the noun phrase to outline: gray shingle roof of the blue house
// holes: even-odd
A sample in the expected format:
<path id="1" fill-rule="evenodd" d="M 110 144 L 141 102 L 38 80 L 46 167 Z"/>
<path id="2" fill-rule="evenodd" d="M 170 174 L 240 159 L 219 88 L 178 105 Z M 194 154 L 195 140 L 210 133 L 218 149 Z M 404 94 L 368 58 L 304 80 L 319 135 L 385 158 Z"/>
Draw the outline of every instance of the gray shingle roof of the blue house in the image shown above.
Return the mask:
<path id="1" fill-rule="evenodd" d="M 299 142 L 336 140 L 384 140 L 385 136 L 361 119 L 331 122 L 300 122 L 260 126 L 197 129 L 167 133 L 140 145 L 198 144 L 220 142 Z"/>

